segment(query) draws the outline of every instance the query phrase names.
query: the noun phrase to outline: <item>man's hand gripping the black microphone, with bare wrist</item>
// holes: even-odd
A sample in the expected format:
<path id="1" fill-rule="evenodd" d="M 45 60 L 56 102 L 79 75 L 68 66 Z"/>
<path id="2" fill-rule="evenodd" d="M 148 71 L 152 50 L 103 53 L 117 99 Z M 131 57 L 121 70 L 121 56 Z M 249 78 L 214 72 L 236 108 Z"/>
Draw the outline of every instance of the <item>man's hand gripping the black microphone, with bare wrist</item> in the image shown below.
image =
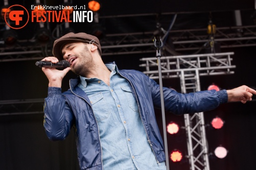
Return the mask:
<path id="1" fill-rule="evenodd" d="M 42 61 L 50 61 L 52 63 L 57 63 L 59 60 L 56 57 L 46 57 Z M 64 76 L 71 70 L 70 67 L 67 67 L 63 70 L 58 70 L 56 68 L 46 68 L 42 67 L 46 77 L 49 80 L 49 87 L 61 87 L 61 81 Z"/>

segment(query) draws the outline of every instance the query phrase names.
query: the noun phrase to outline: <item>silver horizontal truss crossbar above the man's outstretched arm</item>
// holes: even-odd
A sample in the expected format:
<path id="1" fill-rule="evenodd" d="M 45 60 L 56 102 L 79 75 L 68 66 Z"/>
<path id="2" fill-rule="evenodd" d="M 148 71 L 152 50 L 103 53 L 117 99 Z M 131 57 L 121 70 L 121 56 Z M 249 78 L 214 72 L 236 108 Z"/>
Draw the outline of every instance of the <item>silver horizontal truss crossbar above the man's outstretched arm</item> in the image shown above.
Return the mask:
<path id="1" fill-rule="evenodd" d="M 185 56 L 167 56 L 161 57 L 162 78 L 182 78 L 181 72 L 185 71 L 184 77 L 194 76 L 189 74 L 189 71 L 199 71 L 199 76 L 210 75 L 226 75 L 233 74 L 231 68 L 235 68 L 235 65 L 231 65 L 232 58 L 230 55 L 234 53 L 215 53 L 215 54 L 198 54 L 198 55 L 185 55 Z M 142 58 L 145 64 L 140 64 L 140 67 L 145 67 L 144 74 L 148 75 L 152 79 L 158 79 L 157 58 Z M 188 86 L 186 89 L 193 89 L 195 86 Z M 183 87 L 183 86 L 181 86 Z M 185 89 L 183 89 L 184 91 Z"/>

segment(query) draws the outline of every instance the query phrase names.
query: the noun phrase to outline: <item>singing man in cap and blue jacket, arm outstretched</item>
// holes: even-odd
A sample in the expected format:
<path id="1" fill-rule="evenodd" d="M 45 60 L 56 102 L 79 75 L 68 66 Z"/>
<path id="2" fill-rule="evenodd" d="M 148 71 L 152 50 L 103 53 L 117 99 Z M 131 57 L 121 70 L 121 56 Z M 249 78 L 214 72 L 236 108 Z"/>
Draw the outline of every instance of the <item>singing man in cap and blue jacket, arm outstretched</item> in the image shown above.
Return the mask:
<path id="1" fill-rule="evenodd" d="M 42 68 L 49 79 L 44 127 L 51 140 L 65 139 L 76 128 L 80 169 L 166 169 L 154 107 L 161 107 L 159 85 L 136 70 L 119 70 L 101 60 L 99 40 L 69 33 L 54 42 L 53 55 L 65 59 L 63 70 Z M 69 70 L 79 77 L 61 94 Z M 230 101 L 246 103 L 256 91 L 241 86 L 181 94 L 163 88 L 165 109 L 174 114 L 215 109 Z"/>

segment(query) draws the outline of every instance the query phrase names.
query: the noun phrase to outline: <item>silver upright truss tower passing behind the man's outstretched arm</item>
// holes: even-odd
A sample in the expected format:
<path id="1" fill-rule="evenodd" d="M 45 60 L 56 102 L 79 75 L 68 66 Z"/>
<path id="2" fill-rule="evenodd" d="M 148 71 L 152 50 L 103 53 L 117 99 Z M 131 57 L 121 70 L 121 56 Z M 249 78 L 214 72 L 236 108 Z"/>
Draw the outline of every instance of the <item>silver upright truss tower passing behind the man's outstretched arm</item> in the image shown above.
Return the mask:
<path id="1" fill-rule="evenodd" d="M 185 76 L 189 75 L 189 76 Z M 181 71 L 181 89 L 183 93 L 200 91 L 199 70 Z M 208 147 L 203 112 L 193 115 L 184 114 L 187 135 L 187 151 L 190 169 L 209 170 Z"/>

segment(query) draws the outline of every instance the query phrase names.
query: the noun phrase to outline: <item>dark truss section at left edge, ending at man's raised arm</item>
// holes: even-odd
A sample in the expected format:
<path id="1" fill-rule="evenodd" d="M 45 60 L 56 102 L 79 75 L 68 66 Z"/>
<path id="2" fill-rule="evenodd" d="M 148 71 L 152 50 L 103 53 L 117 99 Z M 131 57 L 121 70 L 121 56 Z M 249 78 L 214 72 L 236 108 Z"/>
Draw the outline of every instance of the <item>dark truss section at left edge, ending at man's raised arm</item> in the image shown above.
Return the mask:
<path id="1" fill-rule="evenodd" d="M 44 113 L 44 102 L 45 99 L 0 101 L 0 116 Z"/>

